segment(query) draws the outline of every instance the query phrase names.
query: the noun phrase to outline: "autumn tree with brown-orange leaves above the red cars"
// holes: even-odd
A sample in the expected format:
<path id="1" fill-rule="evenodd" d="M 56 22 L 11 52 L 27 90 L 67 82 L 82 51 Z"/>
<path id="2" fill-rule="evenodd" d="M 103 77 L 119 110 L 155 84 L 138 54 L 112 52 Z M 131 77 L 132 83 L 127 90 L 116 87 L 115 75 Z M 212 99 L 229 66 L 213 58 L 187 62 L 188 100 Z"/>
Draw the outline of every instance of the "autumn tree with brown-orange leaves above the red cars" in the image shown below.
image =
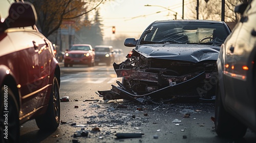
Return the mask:
<path id="1" fill-rule="evenodd" d="M 82 16 L 96 9 L 106 0 L 80 1 L 80 0 L 27 0 L 36 9 L 41 33 L 46 37 L 51 35 L 62 25 L 63 21 L 73 23 L 79 29 L 89 22 L 81 20 Z"/>

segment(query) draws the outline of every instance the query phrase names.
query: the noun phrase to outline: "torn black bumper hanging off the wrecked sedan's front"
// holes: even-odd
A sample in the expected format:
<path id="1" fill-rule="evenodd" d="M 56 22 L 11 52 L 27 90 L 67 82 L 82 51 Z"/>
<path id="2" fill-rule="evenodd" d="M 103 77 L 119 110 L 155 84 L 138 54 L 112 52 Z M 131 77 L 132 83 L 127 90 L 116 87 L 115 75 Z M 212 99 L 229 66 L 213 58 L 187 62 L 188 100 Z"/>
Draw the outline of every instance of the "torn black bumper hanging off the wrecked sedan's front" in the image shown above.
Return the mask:
<path id="1" fill-rule="evenodd" d="M 111 90 L 98 91 L 103 100 L 116 100 L 116 99 L 127 99 L 134 100 L 144 104 L 146 99 L 170 99 L 176 91 L 181 91 L 195 86 L 197 83 L 202 82 L 205 79 L 205 72 L 202 72 L 181 83 L 170 84 L 164 88 L 152 91 L 146 94 L 137 94 L 133 91 L 126 90 L 125 87 L 117 81 L 119 86 L 112 85 Z"/>

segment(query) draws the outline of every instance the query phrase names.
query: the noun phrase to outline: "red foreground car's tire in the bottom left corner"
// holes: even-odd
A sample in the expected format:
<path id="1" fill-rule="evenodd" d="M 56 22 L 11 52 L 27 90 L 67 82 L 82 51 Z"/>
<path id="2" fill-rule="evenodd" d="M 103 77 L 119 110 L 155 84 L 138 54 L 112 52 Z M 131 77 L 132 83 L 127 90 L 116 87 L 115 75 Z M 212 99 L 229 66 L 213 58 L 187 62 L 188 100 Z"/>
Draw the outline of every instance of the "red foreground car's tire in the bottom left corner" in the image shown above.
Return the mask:
<path id="1" fill-rule="evenodd" d="M 19 107 L 17 104 L 17 101 L 15 99 L 15 96 L 12 92 L 12 89 L 7 86 L 2 86 L 1 87 L 1 93 L 0 93 L 0 142 L 19 142 Z M 5 90 L 6 89 L 6 90 Z M 6 92 L 8 91 L 8 92 Z M 6 96 L 5 93 L 8 93 Z M 4 103 L 5 100 L 7 101 L 7 110 L 5 110 Z M 8 112 L 4 112 L 8 111 Z M 8 116 L 4 116 L 7 114 Z M 7 120 L 6 120 L 7 119 Z M 8 122 L 4 122 L 8 121 Z M 8 139 L 5 139 L 4 137 L 6 136 L 4 133 L 6 133 L 6 126 L 8 126 L 7 130 L 7 135 Z"/>

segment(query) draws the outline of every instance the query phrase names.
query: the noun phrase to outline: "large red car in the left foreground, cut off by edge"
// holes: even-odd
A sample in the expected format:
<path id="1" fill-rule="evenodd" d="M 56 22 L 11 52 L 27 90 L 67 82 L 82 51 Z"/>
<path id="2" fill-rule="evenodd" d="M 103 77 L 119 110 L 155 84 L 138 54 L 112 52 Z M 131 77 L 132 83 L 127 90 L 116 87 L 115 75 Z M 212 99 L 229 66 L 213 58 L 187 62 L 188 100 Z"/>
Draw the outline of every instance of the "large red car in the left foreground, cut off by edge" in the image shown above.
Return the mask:
<path id="1" fill-rule="evenodd" d="M 34 118 L 41 130 L 54 131 L 60 68 L 52 43 L 37 30 L 28 2 L 2 0 L 0 19 L 0 142 L 18 142 L 20 125 Z"/>

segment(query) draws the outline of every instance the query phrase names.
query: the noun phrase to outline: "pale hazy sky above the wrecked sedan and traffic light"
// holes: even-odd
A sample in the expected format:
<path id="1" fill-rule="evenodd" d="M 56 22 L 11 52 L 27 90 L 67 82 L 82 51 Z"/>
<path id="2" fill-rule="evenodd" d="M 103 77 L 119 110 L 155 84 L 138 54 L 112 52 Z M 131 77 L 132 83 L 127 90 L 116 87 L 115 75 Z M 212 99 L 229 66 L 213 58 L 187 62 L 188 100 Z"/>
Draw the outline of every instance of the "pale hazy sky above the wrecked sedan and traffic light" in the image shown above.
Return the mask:
<path id="1" fill-rule="evenodd" d="M 193 2 L 196 0 L 184 0 L 184 19 L 189 18 L 187 6 Z M 175 12 L 177 19 L 181 19 L 182 0 L 115 0 L 101 4 L 99 12 L 104 39 L 120 35 L 139 38 L 146 27 L 156 20 L 175 19 Z M 116 28 L 115 34 L 112 34 L 112 26 Z"/>

